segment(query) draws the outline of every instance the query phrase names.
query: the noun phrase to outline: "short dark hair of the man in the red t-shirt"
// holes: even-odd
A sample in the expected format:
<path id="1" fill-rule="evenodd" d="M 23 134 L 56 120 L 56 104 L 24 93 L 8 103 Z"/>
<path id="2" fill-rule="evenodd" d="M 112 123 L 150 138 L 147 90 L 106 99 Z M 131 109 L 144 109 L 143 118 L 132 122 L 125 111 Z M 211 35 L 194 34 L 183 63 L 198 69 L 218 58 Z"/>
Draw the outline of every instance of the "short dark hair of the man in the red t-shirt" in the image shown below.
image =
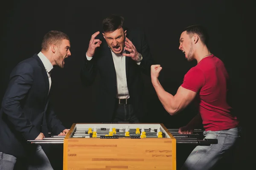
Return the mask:
<path id="1" fill-rule="evenodd" d="M 207 45 L 208 42 L 209 42 L 209 34 L 207 32 L 207 29 L 204 26 L 192 25 L 192 26 L 188 26 L 188 27 L 184 28 L 182 32 L 184 32 L 184 31 L 186 31 L 186 33 L 191 35 L 191 36 L 192 36 L 192 34 L 198 34 L 201 41 L 205 45 Z"/>

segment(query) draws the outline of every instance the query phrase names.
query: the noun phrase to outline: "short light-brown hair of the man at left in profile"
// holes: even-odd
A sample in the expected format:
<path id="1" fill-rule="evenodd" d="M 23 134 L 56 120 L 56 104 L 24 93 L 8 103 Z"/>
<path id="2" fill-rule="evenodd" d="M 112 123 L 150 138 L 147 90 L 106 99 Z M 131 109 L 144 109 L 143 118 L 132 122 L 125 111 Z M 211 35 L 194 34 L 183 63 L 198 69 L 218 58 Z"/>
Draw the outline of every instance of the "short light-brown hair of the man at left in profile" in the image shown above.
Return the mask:
<path id="1" fill-rule="evenodd" d="M 41 43 L 41 50 L 47 51 L 50 45 L 59 45 L 62 40 L 70 40 L 70 38 L 67 36 L 67 34 L 61 31 L 49 31 L 47 34 L 44 35 Z"/>

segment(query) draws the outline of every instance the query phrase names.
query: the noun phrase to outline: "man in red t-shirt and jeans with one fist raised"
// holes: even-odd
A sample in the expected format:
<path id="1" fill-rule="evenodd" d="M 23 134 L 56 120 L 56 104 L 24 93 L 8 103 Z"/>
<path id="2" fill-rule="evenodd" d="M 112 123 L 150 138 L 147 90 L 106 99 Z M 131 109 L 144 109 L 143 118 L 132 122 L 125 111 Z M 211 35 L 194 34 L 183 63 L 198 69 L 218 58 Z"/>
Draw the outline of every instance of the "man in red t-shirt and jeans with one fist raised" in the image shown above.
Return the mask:
<path id="1" fill-rule="evenodd" d="M 151 66 L 151 82 L 170 115 L 175 115 L 199 97 L 199 113 L 186 126 L 180 127 L 179 133 L 191 134 L 198 123 L 203 123 L 205 139 L 218 139 L 218 144 L 195 147 L 182 170 L 211 169 L 239 139 L 239 121 L 227 104 L 228 74 L 224 63 L 209 51 L 207 42 L 204 27 L 193 25 L 183 30 L 179 49 L 188 61 L 196 59 L 197 65 L 186 73 L 174 96 L 158 81 L 162 67 Z"/>

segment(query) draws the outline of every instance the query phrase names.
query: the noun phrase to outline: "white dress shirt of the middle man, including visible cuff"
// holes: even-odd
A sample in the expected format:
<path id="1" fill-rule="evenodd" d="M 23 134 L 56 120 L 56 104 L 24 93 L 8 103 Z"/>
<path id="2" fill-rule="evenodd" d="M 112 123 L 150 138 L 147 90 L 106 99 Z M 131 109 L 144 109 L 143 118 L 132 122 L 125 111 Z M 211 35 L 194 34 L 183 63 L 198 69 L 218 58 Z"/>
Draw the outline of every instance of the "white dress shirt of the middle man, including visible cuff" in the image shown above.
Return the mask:
<path id="1" fill-rule="evenodd" d="M 112 57 L 113 62 L 116 69 L 116 87 L 117 87 L 117 94 L 116 98 L 118 99 L 128 99 L 129 91 L 127 87 L 127 79 L 126 79 L 126 69 L 125 69 L 125 56 L 122 54 L 115 54 L 112 50 Z M 88 57 L 88 60 L 91 60 L 93 57 Z"/>

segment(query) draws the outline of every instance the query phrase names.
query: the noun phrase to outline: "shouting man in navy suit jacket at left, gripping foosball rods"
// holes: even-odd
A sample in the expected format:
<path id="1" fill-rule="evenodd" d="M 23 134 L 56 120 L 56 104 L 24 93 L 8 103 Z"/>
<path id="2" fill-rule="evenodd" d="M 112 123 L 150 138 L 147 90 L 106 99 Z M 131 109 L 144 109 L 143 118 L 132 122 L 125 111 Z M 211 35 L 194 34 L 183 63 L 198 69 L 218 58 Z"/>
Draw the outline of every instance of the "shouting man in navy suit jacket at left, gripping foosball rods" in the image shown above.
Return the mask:
<path id="1" fill-rule="evenodd" d="M 0 170 L 13 170 L 19 161 L 29 170 L 52 170 L 42 147 L 27 141 L 42 140 L 48 127 L 60 136 L 67 134 L 68 129 L 50 107 L 48 94 L 53 66 L 63 68 L 64 59 L 70 55 L 69 37 L 49 31 L 41 52 L 12 70 L 0 110 Z"/>

